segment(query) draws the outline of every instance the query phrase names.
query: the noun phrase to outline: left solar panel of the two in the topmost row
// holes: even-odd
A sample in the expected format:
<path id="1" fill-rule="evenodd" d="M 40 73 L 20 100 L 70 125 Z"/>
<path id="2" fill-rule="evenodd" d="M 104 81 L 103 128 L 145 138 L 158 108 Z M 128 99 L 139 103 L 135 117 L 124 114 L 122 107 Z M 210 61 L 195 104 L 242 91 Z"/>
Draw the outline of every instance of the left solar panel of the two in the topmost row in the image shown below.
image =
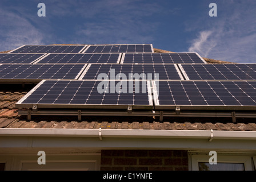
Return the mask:
<path id="1" fill-rule="evenodd" d="M 22 46 L 11 53 L 78 53 L 82 51 L 82 49 L 85 48 L 85 46 L 61 46 L 61 45 L 56 45 L 56 46 L 50 46 L 50 45 L 45 45 L 45 46 L 36 46 L 36 45 L 31 45 L 31 46 Z"/>

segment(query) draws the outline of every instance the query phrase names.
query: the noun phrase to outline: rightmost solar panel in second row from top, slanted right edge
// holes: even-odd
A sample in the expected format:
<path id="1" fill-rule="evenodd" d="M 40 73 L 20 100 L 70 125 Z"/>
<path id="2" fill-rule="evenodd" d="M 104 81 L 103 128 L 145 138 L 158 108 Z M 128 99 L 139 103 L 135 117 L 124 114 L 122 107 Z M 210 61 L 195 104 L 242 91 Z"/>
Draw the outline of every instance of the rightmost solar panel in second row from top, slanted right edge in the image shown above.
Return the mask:
<path id="1" fill-rule="evenodd" d="M 197 53 L 125 53 L 123 64 L 206 63 Z"/>

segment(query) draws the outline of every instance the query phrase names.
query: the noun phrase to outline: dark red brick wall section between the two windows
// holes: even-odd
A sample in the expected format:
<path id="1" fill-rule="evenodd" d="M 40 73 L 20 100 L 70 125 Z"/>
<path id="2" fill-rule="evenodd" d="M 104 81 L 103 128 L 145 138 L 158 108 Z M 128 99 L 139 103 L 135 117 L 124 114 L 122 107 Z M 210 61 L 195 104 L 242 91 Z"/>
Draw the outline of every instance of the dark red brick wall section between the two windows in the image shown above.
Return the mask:
<path id="1" fill-rule="evenodd" d="M 188 156 L 182 150 L 102 150 L 101 170 L 187 171 Z"/>

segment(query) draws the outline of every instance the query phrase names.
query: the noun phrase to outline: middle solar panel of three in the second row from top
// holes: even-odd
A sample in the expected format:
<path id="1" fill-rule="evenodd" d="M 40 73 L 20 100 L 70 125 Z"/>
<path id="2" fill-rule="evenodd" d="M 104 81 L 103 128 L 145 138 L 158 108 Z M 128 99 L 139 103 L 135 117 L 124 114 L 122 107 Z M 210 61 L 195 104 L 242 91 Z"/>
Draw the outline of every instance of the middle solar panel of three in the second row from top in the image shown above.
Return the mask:
<path id="1" fill-rule="evenodd" d="M 120 53 L 50 53 L 38 63 L 41 64 L 86 64 L 118 63 Z"/>

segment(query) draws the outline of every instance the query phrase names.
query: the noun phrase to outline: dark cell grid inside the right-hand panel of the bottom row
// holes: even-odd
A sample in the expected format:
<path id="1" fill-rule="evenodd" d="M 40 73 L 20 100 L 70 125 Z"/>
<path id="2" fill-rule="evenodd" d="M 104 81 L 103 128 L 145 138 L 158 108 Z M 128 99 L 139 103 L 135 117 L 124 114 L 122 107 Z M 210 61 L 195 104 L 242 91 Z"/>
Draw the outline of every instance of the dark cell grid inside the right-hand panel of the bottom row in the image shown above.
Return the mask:
<path id="1" fill-rule="evenodd" d="M 156 107 L 256 106 L 256 81 L 159 81 L 157 88 Z"/>

